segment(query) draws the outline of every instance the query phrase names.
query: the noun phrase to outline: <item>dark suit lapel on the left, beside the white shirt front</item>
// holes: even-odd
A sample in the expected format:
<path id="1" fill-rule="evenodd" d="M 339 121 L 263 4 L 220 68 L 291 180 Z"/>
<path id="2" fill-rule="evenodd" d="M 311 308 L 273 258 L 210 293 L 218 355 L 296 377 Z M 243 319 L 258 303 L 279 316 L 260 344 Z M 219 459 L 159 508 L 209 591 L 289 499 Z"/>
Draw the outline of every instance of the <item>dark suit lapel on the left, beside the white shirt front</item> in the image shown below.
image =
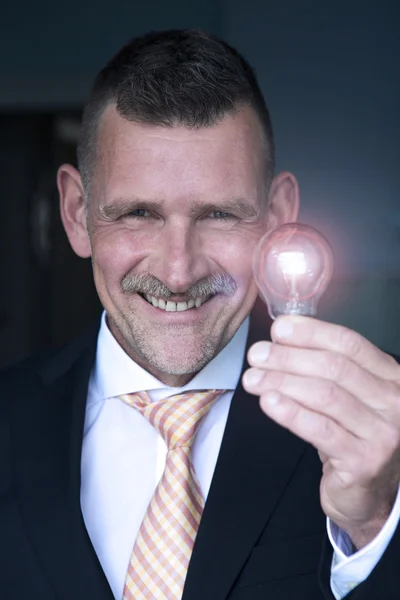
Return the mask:
<path id="1" fill-rule="evenodd" d="M 97 329 L 61 352 L 40 379 L 35 374 L 21 382 L 25 392 L 18 399 L 24 404 L 24 419 L 15 427 L 20 510 L 39 562 L 62 600 L 113 598 L 80 510 L 82 430 L 96 334 Z"/>

